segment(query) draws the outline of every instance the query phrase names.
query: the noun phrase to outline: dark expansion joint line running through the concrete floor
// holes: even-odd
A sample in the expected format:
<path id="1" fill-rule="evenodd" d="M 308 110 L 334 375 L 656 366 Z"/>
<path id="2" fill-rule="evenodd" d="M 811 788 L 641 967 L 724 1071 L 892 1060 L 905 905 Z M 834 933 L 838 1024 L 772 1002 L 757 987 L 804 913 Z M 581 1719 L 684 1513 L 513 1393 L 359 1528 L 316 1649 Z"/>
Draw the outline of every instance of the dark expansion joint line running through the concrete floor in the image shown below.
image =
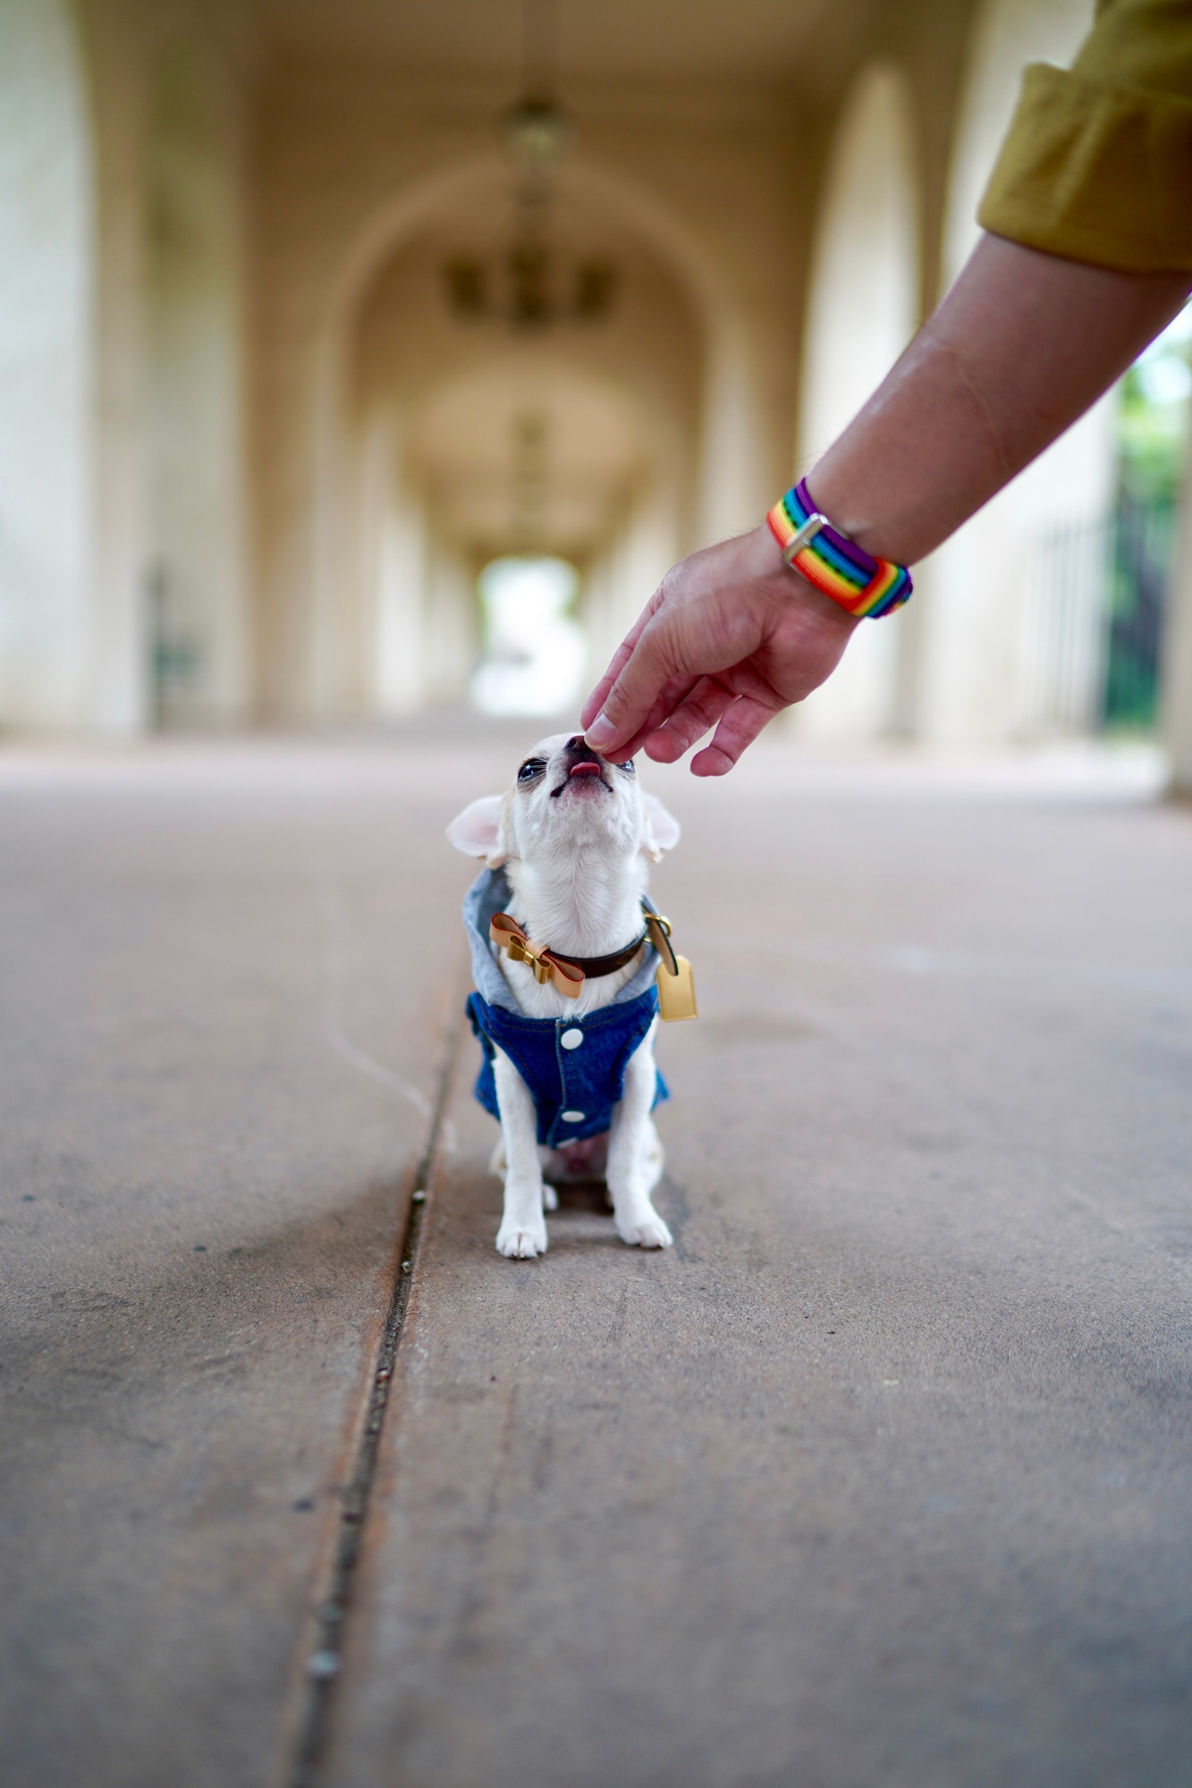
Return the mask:
<path id="1" fill-rule="evenodd" d="M 453 1001 L 458 1010 L 462 999 Z M 338 1532 L 331 1568 L 324 1579 L 324 1595 L 313 1627 L 313 1643 L 306 1647 L 302 1706 L 294 1722 L 297 1740 L 290 1752 L 281 1781 L 286 1788 L 322 1788 L 324 1761 L 331 1736 L 331 1715 L 335 1691 L 340 1681 L 344 1661 L 344 1640 L 347 1616 L 353 1607 L 356 1566 L 363 1548 L 363 1531 L 372 1497 L 372 1482 L 381 1448 L 381 1429 L 388 1393 L 394 1382 L 394 1362 L 401 1341 L 401 1327 L 410 1303 L 413 1268 L 417 1264 L 422 1223 L 426 1216 L 426 1194 L 431 1189 L 435 1164 L 444 1143 L 446 1110 L 451 1094 L 451 1075 L 460 1044 L 460 1019 L 456 1017 L 446 1035 L 444 1057 L 438 1071 L 435 1103 L 431 1107 L 419 1164 L 410 1185 L 410 1205 L 401 1248 L 394 1261 L 394 1278 L 385 1312 L 385 1327 L 372 1366 L 372 1384 L 365 1404 L 363 1425 L 353 1452 L 353 1472 L 342 1495 Z"/>

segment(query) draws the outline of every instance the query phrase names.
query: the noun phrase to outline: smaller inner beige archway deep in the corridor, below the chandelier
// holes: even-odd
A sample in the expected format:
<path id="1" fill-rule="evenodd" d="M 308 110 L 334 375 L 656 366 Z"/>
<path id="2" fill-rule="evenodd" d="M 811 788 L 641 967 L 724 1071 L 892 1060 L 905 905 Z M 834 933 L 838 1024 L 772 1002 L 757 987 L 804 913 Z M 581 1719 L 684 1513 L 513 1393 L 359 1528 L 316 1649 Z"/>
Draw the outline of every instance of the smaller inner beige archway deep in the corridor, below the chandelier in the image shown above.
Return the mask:
<path id="1" fill-rule="evenodd" d="M 401 397 L 387 390 L 363 424 L 360 644 L 378 706 L 462 697 L 483 644 L 476 574 L 507 554 L 576 567 L 589 660 L 603 665 L 641 599 L 625 565 L 610 576 L 610 556 L 659 502 L 668 526 L 651 581 L 677 552 L 677 431 L 625 383 L 553 347 L 507 345 Z M 560 703 L 576 694 L 560 692 Z"/>

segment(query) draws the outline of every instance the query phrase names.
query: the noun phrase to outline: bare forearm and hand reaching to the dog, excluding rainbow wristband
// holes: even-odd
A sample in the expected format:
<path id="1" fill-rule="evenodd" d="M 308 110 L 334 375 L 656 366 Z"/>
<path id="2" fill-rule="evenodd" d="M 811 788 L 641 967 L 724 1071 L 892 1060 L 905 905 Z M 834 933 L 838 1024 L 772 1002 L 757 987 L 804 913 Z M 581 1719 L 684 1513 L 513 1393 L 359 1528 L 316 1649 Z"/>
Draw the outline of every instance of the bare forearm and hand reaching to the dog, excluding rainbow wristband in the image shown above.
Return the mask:
<path id="1" fill-rule="evenodd" d="M 984 236 L 890 377 L 807 474 L 857 545 L 915 563 L 1008 485 L 1124 372 L 1187 293 Z M 664 579 L 583 708 L 600 751 L 719 776 L 768 719 L 838 663 L 854 619 L 788 570 L 768 529 Z M 596 719 L 603 710 L 603 721 Z"/>

